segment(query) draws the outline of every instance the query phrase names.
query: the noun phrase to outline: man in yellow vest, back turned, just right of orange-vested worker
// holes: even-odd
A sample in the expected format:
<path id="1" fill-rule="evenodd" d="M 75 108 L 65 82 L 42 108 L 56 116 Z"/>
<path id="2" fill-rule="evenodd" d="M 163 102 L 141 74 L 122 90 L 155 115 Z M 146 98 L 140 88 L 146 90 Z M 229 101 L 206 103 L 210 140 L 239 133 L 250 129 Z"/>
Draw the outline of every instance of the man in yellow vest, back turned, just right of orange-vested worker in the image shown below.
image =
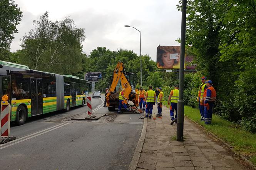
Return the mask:
<path id="1" fill-rule="evenodd" d="M 145 117 L 151 118 L 152 111 L 153 111 L 153 105 L 156 104 L 156 92 L 154 90 L 152 90 L 152 86 L 149 86 L 149 90 L 146 93 L 145 102 L 147 103 Z"/>

